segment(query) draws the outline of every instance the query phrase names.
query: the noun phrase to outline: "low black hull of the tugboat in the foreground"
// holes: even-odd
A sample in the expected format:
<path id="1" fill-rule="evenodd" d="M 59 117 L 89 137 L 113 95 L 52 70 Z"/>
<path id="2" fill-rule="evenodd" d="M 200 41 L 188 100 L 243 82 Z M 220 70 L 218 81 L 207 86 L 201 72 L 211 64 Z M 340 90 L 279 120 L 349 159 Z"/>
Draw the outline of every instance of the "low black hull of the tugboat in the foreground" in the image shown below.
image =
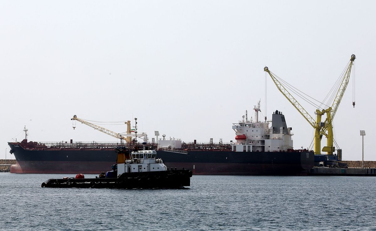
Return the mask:
<path id="1" fill-rule="evenodd" d="M 48 179 L 46 188 L 182 188 L 190 186 L 192 172 L 167 170 L 123 173 L 118 178 Z"/>

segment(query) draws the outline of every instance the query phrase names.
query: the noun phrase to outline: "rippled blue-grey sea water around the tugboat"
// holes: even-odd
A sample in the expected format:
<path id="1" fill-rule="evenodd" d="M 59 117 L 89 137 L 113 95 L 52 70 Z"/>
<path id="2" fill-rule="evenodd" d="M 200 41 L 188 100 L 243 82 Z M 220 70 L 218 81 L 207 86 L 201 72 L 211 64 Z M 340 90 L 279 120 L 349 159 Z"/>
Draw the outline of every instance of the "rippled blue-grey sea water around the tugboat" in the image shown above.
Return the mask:
<path id="1" fill-rule="evenodd" d="M 63 176 L 73 175 L 0 173 L 0 230 L 376 231 L 376 177 L 193 176 L 183 190 L 40 187 Z"/>

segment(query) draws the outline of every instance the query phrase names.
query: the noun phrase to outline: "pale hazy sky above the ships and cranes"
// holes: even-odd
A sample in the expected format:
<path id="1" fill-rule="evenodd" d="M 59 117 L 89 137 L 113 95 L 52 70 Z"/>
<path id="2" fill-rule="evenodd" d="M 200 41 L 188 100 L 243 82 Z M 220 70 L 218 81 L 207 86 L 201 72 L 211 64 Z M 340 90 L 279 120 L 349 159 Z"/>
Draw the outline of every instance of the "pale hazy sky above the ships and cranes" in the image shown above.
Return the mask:
<path id="1" fill-rule="evenodd" d="M 261 99 L 293 128 L 294 147 L 313 129 L 264 66 L 323 100 L 350 56 L 352 79 L 334 119 L 344 160 L 376 160 L 374 1 L 0 1 L 0 158 L 8 141 L 116 141 L 78 124 L 138 118 L 183 141 L 234 140 L 232 123 Z M 299 99 L 298 99 L 299 100 Z M 299 100 L 312 115 L 316 108 Z M 132 120 L 133 125 L 133 120 Z M 105 126 L 105 125 L 103 125 Z M 105 126 L 115 132 L 123 126 Z M 321 146 L 326 146 L 323 139 Z M 6 150 L 7 149 L 7 150 Z M 14 159 L 14 156 L 12 155 Z"/>

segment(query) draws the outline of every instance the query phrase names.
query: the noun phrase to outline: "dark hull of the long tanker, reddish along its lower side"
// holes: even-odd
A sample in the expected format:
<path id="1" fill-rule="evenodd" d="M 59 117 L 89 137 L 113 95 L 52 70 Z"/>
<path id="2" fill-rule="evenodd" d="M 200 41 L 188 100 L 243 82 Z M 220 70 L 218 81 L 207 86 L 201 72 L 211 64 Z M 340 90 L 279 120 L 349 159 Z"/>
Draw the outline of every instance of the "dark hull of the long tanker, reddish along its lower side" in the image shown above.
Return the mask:
<path id="1" fill-rule="evenodd" d="M 27 149 L 9 143 L 17 164 L 11 173 L 92 173 L 111 171 L 117 155 L 114 148 Z M 190 169 L 194 175 L 306 175 L 314 166 L 314 153 L 233 152 L 189 150 L 188 154 L 158 150 L 168 168 Z"/>

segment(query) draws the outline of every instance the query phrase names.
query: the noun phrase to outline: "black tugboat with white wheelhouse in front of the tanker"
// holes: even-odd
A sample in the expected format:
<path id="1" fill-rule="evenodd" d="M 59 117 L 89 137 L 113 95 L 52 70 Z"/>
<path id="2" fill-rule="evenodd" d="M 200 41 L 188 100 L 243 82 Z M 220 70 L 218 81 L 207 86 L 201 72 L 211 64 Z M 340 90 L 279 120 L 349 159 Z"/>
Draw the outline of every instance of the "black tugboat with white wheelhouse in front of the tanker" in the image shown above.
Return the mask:
<path id="1" fill-rule="evenodd" d="M 155 150 L 134 150 L 117 147 L 117 164 L 112 171 L 101 172 L 96 178 L 77 174 L 75 178 L 48 179 L 47 188 L 183 188 L 190 186 L 192 172 L 187 169 L 170 170 Z M 127 158 L 126 158 L 127 156 Z"/>

